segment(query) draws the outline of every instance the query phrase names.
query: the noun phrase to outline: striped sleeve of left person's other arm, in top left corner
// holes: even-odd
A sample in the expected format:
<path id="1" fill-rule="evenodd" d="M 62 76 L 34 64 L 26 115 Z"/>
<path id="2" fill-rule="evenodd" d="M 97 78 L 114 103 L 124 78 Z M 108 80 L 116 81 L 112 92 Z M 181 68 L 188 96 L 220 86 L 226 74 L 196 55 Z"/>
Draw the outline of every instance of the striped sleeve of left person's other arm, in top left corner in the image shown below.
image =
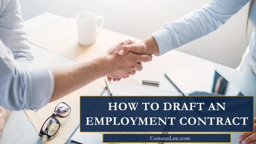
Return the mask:
<path id="1" fill-rule="evenodd" d="M 28 67 L 34 57 L 31 54 L 23 22 L 19 0 L 2 1 L 0 13 L 0 39 L 12 51 L 14 59 L 23 67 Z M 1 3 L 0 3 L 1 6 Z"/>

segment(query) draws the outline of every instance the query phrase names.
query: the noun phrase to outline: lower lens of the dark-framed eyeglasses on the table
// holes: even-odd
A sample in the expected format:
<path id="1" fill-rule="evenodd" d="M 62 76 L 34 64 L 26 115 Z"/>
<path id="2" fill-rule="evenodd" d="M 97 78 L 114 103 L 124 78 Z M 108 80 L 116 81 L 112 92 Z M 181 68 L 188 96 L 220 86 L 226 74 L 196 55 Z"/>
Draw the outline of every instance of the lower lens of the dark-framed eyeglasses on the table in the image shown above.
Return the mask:
<path id="1" fill-rule="evenodd" d="M 53 136 L 58 131 L 59 127 L 60 124 L 57 119 L 49 117 L 44 123 L 42 131 L 49 136 Z"/>

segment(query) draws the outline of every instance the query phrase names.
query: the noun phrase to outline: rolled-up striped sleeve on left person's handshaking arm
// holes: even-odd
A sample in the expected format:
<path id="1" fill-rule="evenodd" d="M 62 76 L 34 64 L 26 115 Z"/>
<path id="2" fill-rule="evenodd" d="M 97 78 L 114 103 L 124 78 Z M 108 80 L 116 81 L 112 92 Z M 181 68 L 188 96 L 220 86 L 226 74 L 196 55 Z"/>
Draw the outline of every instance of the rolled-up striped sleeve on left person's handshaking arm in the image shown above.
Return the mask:
<path id="1" fill-rule="evenodd" d="M 54 75 L 47 68 L 24 68 L 0 40 L 0 106 L 8 110 L 45 106 L 54 91 Z"/>

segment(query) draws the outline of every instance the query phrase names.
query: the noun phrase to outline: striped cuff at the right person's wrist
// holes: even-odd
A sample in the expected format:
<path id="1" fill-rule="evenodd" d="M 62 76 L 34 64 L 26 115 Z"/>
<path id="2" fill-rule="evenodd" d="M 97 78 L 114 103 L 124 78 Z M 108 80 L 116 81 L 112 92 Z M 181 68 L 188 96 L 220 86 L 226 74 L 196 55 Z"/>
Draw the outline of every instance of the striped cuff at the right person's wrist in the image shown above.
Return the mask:
<path id="1" fill-rule="evenodd" d="M 156 56 L 161 56 L 173 49 L 171 36 L 166 29 L 160 29 L 151 34 L 151 36 L 154 37 L 159 48 L 159 54 Z"/>

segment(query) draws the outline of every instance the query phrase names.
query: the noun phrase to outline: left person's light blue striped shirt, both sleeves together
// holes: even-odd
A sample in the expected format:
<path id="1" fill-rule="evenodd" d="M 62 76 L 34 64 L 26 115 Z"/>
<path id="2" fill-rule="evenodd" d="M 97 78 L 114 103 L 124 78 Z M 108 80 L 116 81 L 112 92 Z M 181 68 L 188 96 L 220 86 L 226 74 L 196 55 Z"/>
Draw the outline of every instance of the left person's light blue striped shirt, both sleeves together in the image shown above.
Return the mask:
<path id="1" fill-rule="evenodd" d="M 37 111 L 50 101 L 54 75 L 49 68 L 26 68 L 34 57 L 21 30 L 19 1 L 0 0 L 0 6 L 0 106 Z"/>

